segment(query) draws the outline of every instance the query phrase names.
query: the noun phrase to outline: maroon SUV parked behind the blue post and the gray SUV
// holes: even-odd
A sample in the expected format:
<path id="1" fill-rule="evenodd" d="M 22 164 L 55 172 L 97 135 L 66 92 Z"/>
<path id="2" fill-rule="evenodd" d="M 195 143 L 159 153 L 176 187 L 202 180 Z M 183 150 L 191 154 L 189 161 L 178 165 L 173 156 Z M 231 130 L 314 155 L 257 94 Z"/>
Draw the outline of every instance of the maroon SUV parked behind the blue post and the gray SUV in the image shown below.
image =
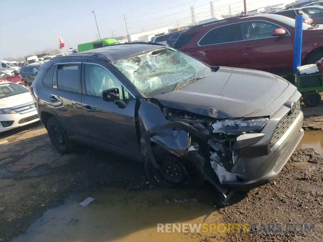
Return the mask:
<path id="1" fill-rule="evenodd" d="M 181 33 L 174 48 L 210 66 L 288 75 L 293 69 L 295 20 L 276 14 L 232 17 Z M 323 25 L 303 23 L 302 64 L 323 57 Z"/>

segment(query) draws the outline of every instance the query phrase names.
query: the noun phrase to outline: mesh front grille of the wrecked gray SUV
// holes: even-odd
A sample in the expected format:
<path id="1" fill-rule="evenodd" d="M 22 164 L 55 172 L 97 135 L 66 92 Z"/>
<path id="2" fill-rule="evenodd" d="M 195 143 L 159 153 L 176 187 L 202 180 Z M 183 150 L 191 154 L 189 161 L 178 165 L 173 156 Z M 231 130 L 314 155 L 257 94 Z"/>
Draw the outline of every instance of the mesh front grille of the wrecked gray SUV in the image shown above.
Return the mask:
<path id="1" fill-rule="evenodd" d="M 296 103 L 296 112 L 293 114 L 289 113 L 279 120 L 278 125 L 275 129 L 275 133 L 271 138 L 270 147 L 273 147 L 276 144 L 276 142 L 285 134 L 286 130 L 295 121 L 300 111 L 301 111 L 301 101 L 298 100 Z"/>

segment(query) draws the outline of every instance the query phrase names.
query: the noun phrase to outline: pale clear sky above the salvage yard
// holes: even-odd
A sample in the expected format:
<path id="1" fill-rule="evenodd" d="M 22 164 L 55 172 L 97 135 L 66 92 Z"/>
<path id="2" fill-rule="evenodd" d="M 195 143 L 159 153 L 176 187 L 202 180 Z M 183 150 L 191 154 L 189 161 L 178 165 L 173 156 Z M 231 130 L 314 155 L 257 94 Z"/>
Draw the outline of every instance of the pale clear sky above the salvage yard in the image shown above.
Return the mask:
<path id="1" fill-rule="evenodd" d="M 280 0 L 246 0 L 247 9 Z M 213 0 L 214 14 L 243 11 L 243 0 Z M 190 6 L 197 21 L 210 17 L 210 0 L 0 0 L 0 59 L 20 57 L 36 51 L 58 47 L 58 36 L 64 49 L 97 39 L 96 18 L 101 38 L 126 35 L 123 14 L 129 32 L 148 31 L 154 27 L 190 24 Z"/>

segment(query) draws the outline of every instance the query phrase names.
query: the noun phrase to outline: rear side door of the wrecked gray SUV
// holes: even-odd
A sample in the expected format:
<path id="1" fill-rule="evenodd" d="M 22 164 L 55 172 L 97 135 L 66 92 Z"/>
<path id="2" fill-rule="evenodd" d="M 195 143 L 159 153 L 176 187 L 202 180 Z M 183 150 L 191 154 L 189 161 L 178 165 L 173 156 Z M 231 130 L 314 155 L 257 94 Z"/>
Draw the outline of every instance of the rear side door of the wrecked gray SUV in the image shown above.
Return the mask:
<path id="1" fill-rule="evenodd" d="M 43 99 L 48 102 L 47 107 L 62 121 L 68 136 L 82 136 L 81 63 L 57 63 L 54 68 L 51 88 L 46 88 L 46 94 L 42 95 Z M 46 74 L 51 75 L 50 71 L 51 69 Z"/>

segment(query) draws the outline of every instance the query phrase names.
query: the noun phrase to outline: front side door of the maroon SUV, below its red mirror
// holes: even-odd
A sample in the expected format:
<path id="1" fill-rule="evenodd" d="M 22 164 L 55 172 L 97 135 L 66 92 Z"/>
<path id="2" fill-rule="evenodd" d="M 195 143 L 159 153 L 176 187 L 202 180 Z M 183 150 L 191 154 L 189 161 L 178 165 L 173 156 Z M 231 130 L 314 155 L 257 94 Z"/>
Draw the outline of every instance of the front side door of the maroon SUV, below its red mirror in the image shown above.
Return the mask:
<path id="1" fill-rule="evenodd" d="M 264 20 L 241 22 L 240 28 L 242 67 L 277 74 L 293 70 L 293 38 L 286 28 L 282 36 L 273 36 L 273 31 L 282 26 Z"/>

